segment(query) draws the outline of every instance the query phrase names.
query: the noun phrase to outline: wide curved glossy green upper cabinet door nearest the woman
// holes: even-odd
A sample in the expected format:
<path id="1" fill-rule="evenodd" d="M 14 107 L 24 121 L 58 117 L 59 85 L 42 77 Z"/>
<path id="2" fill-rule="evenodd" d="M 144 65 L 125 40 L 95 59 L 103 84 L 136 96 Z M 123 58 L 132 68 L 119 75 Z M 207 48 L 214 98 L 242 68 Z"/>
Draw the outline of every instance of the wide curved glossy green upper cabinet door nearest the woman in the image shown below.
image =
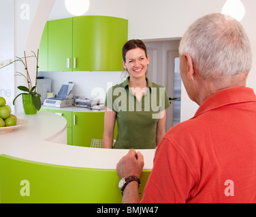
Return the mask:
<path id="1" fill-rule="evenodd" d="M 128 21 L 108 16 L 73 18 L 73 71 L 122 71 Z"/>

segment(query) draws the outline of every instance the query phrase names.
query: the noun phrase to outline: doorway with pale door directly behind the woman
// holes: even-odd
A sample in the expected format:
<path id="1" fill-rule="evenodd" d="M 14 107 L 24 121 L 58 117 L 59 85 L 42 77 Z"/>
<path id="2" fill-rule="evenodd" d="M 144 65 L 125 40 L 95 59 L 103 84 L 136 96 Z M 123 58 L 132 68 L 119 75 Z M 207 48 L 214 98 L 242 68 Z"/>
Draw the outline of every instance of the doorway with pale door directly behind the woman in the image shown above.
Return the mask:
<path id="1" fill-rule="evenodd" d="M 143 40 L 150 56 L 146 77 L 167 90 L 171 106 L 167 109 L 165 131 L 180 123 L 180 60 L 178 46 L 180 40 Z"/>

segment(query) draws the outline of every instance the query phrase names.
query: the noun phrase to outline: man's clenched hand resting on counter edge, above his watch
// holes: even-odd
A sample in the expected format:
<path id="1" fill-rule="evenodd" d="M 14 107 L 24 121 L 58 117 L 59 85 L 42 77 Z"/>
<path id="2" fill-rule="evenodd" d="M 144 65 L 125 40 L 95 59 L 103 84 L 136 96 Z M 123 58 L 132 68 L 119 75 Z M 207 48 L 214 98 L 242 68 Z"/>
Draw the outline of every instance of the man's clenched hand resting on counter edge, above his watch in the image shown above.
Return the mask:
<path id="1" fill-rule="evenodd" d="M 116 165 L 116 172 L 120 178 L 127 178 L 129 176 L 136 176 L 140 178 L 142 169 L 144 167 L 144 157 L 140 151 L 136 153 L 134 149 L 131 149 L 127 155 Z"/>

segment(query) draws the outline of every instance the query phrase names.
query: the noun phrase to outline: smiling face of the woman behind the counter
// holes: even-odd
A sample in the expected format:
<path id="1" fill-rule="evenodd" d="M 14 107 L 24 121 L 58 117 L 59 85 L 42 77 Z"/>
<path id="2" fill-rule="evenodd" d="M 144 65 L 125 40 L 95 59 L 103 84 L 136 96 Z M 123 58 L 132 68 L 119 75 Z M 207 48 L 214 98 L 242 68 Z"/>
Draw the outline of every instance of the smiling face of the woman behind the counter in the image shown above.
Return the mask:
<path id="1" fill-rule="evenodd" d="M 148 69 L 149 56 L 146 56 L 144 50 L 140 47 L 131 49 L 126 53 L 123 67 L 127 69 L 131 78 L 146 77 Z"/>

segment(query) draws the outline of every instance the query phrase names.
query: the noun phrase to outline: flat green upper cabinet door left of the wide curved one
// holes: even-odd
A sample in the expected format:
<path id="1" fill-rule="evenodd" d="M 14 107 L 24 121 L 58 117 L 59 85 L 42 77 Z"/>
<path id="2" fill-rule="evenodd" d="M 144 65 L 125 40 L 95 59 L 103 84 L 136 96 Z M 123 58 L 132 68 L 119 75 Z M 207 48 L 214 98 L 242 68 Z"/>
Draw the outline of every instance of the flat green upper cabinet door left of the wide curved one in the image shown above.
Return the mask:
<path id="1" fill-rule="evenodd" d="M 48 71 L 72 71 L 72 18 L 48 21 Z"/>

